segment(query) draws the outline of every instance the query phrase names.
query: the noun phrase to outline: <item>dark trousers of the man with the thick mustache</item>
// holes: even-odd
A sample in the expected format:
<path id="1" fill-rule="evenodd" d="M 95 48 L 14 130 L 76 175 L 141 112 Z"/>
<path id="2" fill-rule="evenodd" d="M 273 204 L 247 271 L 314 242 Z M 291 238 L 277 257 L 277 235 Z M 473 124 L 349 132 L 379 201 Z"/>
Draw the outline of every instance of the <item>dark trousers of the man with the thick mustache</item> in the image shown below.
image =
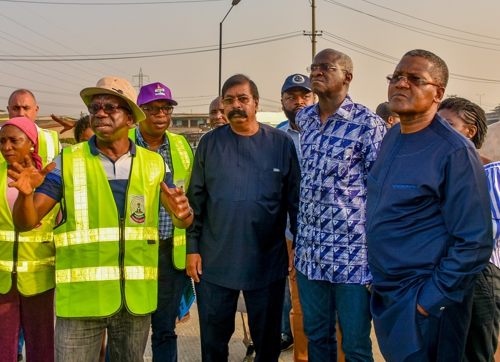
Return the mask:
<path id="1" fill-rule="evenodd" d="M 255 362 L 277 362 L 281 352 L 281 313 L 285 278 L 263 288 L 243 290 Z M 227 361 L 239 290 L 200 278 L 195 283 L 202 362 Z"/>

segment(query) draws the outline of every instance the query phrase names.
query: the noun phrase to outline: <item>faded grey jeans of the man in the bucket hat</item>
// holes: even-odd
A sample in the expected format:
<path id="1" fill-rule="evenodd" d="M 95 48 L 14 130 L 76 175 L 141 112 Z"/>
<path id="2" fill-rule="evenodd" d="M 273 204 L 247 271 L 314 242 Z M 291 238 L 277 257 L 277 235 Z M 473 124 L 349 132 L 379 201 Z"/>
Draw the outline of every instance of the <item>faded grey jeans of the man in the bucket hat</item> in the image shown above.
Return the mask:
<path id="1" fill-rule="evenodd" d="M 96 361 L 107 328 L 111 362 L 143 362 L 151 315 L 132 315 L 125 306 L 105 318 L 55 320 L 55 362 Z"/>

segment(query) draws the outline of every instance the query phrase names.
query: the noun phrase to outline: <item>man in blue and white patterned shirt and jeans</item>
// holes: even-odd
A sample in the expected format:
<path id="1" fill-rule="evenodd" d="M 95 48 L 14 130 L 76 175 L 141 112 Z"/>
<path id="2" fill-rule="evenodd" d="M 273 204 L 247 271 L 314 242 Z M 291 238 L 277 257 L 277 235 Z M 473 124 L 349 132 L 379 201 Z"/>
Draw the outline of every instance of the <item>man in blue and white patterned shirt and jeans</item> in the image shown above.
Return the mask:
<path id="1" fill-rule="evenodd" d="M 303 172 L 294 266 L 309 360 L 315 362 L 337 360 L 337 314 L 346 360 L 373 360 L 366 177 L 386 127 L 347 94 L 352 68 L 346 54 L 320 51 L 307 69 L 319 102 L 295 118 Z"/>

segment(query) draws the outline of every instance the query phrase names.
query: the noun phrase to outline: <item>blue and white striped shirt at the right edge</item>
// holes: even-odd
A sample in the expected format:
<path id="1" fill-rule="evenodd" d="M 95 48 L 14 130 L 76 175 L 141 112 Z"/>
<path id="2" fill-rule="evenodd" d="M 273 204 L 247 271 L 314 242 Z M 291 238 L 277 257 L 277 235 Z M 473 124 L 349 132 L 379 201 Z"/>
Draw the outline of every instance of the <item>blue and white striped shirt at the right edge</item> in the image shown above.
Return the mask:
<path id="1" fill-rule="evenodd" d="M 493 218 L 493 253 L 491 261 L 500 268 L 500 162 L 488 163 L 484 166 L 491 199 L 491 216 Z"/>

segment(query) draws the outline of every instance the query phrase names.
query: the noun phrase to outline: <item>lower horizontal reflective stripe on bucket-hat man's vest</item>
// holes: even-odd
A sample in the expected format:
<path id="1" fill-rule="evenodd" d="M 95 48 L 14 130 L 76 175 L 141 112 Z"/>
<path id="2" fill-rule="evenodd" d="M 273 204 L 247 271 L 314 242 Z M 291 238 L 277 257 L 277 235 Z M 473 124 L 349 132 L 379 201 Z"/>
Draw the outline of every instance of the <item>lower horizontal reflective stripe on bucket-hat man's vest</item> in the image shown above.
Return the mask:
<path id="1" fill-rule="evenodd" d="M 156 280 L 158 268 L 144 266 L 125 266 L 127 280 Z M 81 267 L 55 271 L 56 283 L 70 283 L 75 281 L 119 280 L 118 266 Z"/>

